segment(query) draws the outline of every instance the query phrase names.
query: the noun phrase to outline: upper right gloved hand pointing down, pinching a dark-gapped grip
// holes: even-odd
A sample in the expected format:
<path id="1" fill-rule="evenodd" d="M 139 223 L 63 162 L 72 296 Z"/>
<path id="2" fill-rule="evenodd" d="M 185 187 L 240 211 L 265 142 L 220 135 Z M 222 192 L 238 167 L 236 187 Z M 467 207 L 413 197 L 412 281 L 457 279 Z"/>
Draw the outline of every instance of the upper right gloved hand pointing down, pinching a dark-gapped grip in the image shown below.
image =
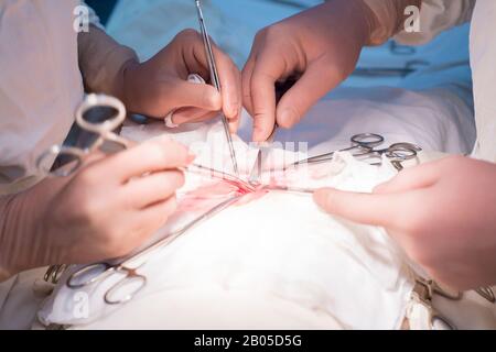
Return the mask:
<path id="1" fill-rule="evenodd" d="M 291 128 L 355 69 L 375 16 L 362 1 L 330 0 L 260 31 L 242 69 L 254 141 Z M 274 84 L 299 77 L 276 107 Z"/>

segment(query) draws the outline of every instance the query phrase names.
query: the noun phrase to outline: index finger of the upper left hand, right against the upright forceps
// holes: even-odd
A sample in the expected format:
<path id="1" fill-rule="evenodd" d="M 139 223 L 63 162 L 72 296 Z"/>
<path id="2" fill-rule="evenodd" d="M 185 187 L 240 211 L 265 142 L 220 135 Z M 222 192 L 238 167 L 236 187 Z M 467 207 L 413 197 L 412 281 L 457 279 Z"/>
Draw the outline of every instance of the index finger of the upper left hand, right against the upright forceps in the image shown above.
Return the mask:
<path id="1" fill-rule="evenodd" d="M 227 119 L 237 119 L 241 110 L 241 73 L 229 56 L 224 54 L 216 45 L 213 45 L 220 79 L 223 96 L 223 111 Z"/>

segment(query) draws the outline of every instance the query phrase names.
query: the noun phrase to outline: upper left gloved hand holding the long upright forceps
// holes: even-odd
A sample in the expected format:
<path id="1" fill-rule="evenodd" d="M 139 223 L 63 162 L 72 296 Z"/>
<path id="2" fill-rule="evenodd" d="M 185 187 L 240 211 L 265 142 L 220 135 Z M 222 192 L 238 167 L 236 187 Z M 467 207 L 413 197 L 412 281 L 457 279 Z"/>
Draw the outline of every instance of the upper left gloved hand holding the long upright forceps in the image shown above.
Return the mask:
<path id="1" fill-rule="evenodd" d="M 202 36 L 186 30 L 150 61 L 128 64 L 125 69 L 127 108 L 159 119 L 176 110 L 173 116 L 176 124 L 205 121 L 223 110 L 235 132 L 242 107 L 241 74 L 215 43 L 213 50 L 222 95 L 212 85 L 187 81 L 190 74 L 198 74 L 208 81 L 209 69 Z"/>

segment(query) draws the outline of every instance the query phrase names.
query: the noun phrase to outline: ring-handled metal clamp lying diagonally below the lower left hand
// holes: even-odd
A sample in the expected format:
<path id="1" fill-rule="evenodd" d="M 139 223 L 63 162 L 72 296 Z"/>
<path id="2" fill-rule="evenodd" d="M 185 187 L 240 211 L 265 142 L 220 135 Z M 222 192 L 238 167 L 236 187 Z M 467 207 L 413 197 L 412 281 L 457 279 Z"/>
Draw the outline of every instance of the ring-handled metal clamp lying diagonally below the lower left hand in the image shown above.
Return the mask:
<path id="1" fill-rule="evenodd" d="M 235 195 L 229 197 L 227 200 L 224 200 L 205 213 L 195 218 L 180 230 L 172 232 L 163 240 L 155 242 L 119 264 L 112 265 L 108 263 L 96 263 L 80 267 L 67 278 L 66 286 L 71 289 L 80 289 L 93 284 L 104 282 L 105 279 L 111 277 L 112 274 L 121 274 L 125 276 L 107 289 L 104 295 L 104 300 L 108 305 L 120 305 L 131 300 L 147 285 L 147 277 L 139 274 L 138 271 L 147 263 L 153 253 L 165 248 L 188 230 L 228 208 L 242 196 L 244 195 Z M 119 290 L 122 290 L 126 287 L 129 287 L 128 290 L 125 294 L 119 294 Z"/>

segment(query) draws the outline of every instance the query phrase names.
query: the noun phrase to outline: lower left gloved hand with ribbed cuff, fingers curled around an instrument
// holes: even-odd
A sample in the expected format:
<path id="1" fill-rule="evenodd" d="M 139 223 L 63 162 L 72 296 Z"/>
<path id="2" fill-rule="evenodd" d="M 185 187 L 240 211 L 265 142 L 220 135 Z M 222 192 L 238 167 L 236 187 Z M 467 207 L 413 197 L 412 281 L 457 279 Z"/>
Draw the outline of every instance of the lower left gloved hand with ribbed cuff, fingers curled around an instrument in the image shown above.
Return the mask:
<path id="1" fill-rule="evenodd" d="M 175 190 L 184 183 L 177 167 L 193 158 L 186 147 L 160 138 L 93 157 L 72 178 L 47 178 L 3 201 L 0 272 L 130 253 L 175 210 Z"/>

